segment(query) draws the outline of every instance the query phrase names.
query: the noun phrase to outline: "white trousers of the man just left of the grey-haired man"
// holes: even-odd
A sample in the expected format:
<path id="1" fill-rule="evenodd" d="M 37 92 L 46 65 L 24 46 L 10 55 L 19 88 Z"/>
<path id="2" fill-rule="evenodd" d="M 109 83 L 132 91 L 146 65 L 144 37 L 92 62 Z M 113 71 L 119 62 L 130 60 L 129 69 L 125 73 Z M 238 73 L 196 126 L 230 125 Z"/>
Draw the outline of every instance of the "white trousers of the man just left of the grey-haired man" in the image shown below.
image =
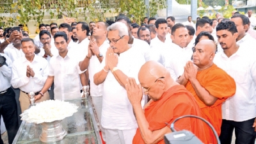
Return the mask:
<path id="1" fill-rule="evenodd" d="M 99 120 L 99 125 L 100 125 L 100 131 L 101 131 L 101 134 L 102 134 L 102 139 L 104 141 L 106 141 L 106 136 L 105 136 L 104 128 L 101 126 L 102 96 L 94 97 L 94 96 L 91 95 L 91 97 L 92 97 L 92 104 L 94 106 L 97 118 Z"/>

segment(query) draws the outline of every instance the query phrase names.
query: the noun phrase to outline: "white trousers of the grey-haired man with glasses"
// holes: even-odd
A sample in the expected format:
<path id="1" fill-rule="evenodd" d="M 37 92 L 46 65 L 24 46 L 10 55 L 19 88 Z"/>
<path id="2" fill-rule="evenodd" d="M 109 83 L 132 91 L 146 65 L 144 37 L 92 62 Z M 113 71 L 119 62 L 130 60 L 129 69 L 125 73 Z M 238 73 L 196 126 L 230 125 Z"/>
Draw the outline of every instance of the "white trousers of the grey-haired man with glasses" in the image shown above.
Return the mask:
<path id="1" fill-rule="evenodd" d="M 106 144 L 132 144 L 137 129 L 105 129 Z"/>

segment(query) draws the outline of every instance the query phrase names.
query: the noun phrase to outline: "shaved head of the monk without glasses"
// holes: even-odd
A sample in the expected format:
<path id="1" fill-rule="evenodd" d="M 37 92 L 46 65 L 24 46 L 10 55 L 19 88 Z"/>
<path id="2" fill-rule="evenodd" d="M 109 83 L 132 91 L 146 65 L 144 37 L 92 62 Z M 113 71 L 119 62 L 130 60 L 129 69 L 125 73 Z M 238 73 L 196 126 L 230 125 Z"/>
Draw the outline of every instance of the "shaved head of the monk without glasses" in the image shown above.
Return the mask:
<path id="1" fill-rule="evenodd" d="M 216 52 L 216 44 L 212 40 L 200 40 L 195 45 L 193 63 L 201 69 L 211 67 Z"/>

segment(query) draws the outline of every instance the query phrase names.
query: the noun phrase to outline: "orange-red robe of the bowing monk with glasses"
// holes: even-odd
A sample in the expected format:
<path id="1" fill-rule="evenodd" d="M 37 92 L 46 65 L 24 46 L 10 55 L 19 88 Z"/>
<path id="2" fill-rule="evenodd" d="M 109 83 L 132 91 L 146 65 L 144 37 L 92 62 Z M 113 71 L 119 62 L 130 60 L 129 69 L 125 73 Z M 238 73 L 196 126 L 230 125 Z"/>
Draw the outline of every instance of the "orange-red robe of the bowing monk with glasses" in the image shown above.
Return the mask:
<path id="1" fill-rule="evenodd" d="M 163 129 L 165 123 L 171 124 L 173 120 L 184 115 L 201 116 L 200 108 L 195 98 L 182 85 L 176 85 L 163 93 L 161 99 L 153 101 L 145 108 L 145 117 L 149 124 L 150 131 Z M 203 122 L 196 118 L 182 118 L 175 122 L 177 131 L 186 129 L 193 132 L 201 141 L 205 142 L 205 132 Z M 137 129 L 132 143 L 144 143 L 140 130 Z M 164 140 L 158 142 L 164 144 Z"/>

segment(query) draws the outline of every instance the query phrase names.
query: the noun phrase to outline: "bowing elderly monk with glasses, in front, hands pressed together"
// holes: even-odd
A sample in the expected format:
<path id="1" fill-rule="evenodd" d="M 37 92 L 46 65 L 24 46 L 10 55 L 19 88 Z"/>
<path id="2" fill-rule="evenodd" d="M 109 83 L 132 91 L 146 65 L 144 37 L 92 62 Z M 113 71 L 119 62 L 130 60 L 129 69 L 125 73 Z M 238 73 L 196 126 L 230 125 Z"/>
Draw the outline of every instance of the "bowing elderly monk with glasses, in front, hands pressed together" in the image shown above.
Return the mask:
<path id="1" fill-rule="evenodd" d="M 193 95 L 184 86 L 173 81 L 170 72 L 160 63 L 148 61 L 141 67 L 138 76 L 139 85 L 134 78 L 127 79 L 125 85 L 139 127 L 132 143 L 164 143 L 164 134 L 172 132 L 166 123 L 171 124 L 184 115 L 201 116 Z M 145 112 L 140 104 L 141 86 L 151 99 L 145 106 Z M 175 129 L 191 131 L 205 142 L 204 125 L 200 120 L 180 119 L 175 123 Z"/>

